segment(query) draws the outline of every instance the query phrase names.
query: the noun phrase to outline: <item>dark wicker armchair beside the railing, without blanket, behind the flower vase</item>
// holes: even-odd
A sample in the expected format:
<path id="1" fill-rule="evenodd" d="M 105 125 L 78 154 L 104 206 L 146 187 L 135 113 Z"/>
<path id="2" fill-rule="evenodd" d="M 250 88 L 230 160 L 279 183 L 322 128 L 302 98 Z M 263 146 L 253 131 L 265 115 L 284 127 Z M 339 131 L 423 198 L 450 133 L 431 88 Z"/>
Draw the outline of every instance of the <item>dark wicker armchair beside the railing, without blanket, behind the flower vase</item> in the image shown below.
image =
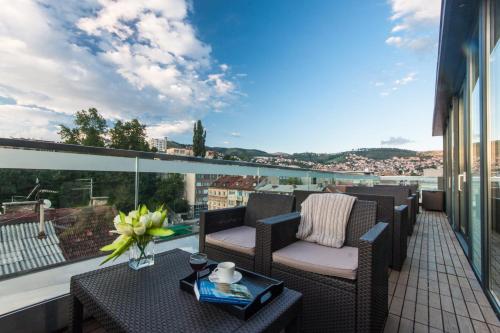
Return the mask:
<path id="1" fill-rule="evenodd" d="M 247 206 L 204 211 L 200 216 L 199 250 L 215 261 L 232 261 L 238 267 L 259 271 L 259 235 L 255 234 L 258 220 L 293 211 L 290 195 L 251 193 Z M 221 232 L 232 233 L 221 236 Z M 243 235 L 240 233 L 243 232 Z M 254 236 L 255 234 L 255 236 Z M 227 237 L 234 237 L 234 241 Z M 208 236 L 208 239 L 207 239 Z M 248 240 L 248 244 L 241 241 Z M 220 241 L 218 240 L 220 239 Z"/>

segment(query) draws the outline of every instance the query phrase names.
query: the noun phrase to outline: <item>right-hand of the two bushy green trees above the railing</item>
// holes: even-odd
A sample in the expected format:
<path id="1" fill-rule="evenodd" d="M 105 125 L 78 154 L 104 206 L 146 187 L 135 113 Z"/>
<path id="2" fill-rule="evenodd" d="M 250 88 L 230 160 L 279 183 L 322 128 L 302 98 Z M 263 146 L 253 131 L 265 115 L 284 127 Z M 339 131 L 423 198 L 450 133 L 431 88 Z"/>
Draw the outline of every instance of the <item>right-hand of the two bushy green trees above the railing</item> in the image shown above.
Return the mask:
<path id="1" fill-rule="evenodd" d="M 146 141 L 146 125 L 137 119 L 126 122 L 118 120 L 109 133 L 111 148 L 150 151 Z"/>

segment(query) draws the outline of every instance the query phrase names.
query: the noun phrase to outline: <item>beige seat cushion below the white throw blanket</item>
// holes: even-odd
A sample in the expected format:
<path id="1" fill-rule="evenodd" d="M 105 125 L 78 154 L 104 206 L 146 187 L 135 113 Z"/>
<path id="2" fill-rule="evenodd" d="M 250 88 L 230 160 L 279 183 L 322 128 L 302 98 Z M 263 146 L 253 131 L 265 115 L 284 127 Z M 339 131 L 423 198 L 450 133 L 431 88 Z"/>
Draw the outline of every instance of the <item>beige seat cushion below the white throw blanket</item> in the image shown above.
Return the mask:
<path id="1" fill-rule="evenodd" d="M 356 280 L 358 248 L 297 241 L 273 253 L 273 262 L 307 272 Z"/>

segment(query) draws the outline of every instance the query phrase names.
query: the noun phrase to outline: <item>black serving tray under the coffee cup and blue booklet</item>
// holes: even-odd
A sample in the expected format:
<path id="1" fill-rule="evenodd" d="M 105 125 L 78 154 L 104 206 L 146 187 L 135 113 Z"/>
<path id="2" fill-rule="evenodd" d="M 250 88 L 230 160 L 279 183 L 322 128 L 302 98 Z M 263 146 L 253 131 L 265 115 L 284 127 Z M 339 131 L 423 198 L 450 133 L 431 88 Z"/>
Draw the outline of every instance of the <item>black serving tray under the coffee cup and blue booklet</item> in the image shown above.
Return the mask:
<path id="1" fill-rule="evenodd" d="M 217 267 L 217 264 L 208 265 L 205 270 L 200 272 L 200 279 L 207 277 Z M 245 269 L 236 268 L 241 273 L 243 278 L 239 284 L 245 285 L 254 296 L 253 301 L 245 306 L 210 303 L 221 309 L 231 313 L 242 320 L 247 320 L 257 311 L 262 309 L 267 303 L 271 302 L 283 291 L 283 281 L 268 278 L 266 276 L 247 271 Z M 179 281 L 182 290 L 194 295 L 194 282 L 196 281 L 196 273 L 192 273 Z"/>

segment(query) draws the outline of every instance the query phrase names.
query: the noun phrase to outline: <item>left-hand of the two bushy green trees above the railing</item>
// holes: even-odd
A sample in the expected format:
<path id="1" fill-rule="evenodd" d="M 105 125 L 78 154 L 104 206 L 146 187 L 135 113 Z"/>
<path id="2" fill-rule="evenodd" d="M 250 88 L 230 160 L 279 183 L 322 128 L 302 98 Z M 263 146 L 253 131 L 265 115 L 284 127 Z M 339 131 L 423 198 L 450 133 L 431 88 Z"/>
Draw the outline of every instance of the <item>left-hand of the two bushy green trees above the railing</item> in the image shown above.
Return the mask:
<path id="1" fill-rule="evenodd" d="M 60 125 L 59 135 L 64 143 L 104 147 L 104 134 L 106 134 L 108 126 L 106 119 L 99 114 L 96 108 L 78 111 L 74 123 L 74 128 Z"/>

